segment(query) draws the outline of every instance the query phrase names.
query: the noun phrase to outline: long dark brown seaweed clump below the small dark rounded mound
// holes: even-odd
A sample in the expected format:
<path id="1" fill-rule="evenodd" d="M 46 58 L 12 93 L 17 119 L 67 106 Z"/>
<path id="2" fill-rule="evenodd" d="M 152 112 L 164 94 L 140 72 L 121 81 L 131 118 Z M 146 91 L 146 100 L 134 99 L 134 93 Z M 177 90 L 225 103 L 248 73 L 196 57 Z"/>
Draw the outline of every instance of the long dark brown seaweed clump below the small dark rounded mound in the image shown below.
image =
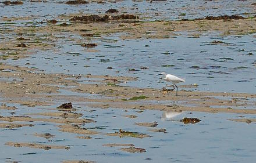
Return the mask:
<path id="1" fill-rule="evenodd" d="M 118 16 L 98 16 L 98 15 L 84 15 L 84 16 L 74 16 L 70 21 L 84 21 L 84 23 L 94 23 L 94 22 L 108 22 L 111 20 L 120 20 L 120 19 L 138 19 L 138 16 L 122 14 Z"/>

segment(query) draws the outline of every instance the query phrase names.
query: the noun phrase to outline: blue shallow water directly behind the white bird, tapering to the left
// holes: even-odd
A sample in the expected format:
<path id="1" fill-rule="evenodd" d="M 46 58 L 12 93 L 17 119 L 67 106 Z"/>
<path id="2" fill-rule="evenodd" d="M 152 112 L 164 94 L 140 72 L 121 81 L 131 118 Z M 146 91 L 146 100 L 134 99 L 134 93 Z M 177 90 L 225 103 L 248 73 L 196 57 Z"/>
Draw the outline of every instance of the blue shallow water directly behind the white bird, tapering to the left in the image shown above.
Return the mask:
<path id="1" fill-rule="evenodd" d="M 185 78 L 186 84 L 198 84 L 194 90 L 255 93 L 256 57 L 248 55 L 256 52 L 253 35 L 212 35 L 136 41 L 118 37 L 99 38 L 95 41 L 99 45 L 94 48 L 99 52 L 87 52 L 72 42 L 61 42 L 62 48 L 58 52 L 38 52 L 29 59 L 8 60 L 8 63 L 20 66 L 31 63 L 28 67 L 37 67 L 48 73 L 138 77 L 135 82 L 120 85 L 151 88 L 165 86 L 166 83 L 157 74 L 167 72 Z M 108 42 L 104 41 L 106 39 Z M 212 41 L 223 41 L 225 44 L 212 44 Z M 108 67 L 113 69 L 108 70 Z M 141 70 L 141 67 L 148 69 Z M 129 71 L 130 68 L 136 71 Z"/>

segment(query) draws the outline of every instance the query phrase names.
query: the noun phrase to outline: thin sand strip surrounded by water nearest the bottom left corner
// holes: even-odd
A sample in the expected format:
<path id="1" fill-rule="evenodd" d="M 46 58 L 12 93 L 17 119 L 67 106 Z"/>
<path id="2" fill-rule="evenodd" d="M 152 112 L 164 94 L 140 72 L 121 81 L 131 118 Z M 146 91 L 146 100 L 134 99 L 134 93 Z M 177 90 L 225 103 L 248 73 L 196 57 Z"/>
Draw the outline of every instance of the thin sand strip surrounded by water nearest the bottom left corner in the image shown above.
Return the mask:
<path id="1" fill-rule="evenodd" d="M 13 146 L 13 147 L 30 147 L 30 148 L 40 148 L 43 150 L 50 150 L 50 149 L 66 149 L 68 150 L 70 147 L 67 146 L 52 146 L 52 145 L 44 145 L 44 144 L 36 144 L 36 143 L 17 143 L 17 142 L 7 142 L 5 143 L 6 146 Z"/>

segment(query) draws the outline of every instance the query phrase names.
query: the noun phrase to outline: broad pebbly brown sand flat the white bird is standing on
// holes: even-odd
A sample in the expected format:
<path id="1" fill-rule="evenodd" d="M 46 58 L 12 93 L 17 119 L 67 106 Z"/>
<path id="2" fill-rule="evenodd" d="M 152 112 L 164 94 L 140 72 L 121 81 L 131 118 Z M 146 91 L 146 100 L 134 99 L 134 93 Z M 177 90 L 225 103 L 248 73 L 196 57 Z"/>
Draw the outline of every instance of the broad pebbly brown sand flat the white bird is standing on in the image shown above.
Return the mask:
<path id="1" fill-rule="evenodd" d="M 255 114 L 256 95 L 253 93 L 229 93 L 229 92 L 198 92 L 179 90 L 179 96 L 174 96 L 174 92 L 165 92 L 162 89 L 154 88 L 133 88 L 127 86 L 108 85 L 109 81 L 128 81 L 136 80 L 132 77 L 111 77 L 104 75 L 84 75 L 86 79 L 98 78 L 103 84 L 79 84 L 74 79 L 76 76 L 67 74 L 45 74 L 33 73 L 32 69 L 26 67 L 15 67 L 1 64 L 3 69 L 8 68 L 12 71 L 0 72 L 3 77 L 17 78 L 20 80 L 12 83 L 1 82 L 0 89 L 4 97 L 1 102 L 19 103 L 22 105 L 47 106 L 58 103 L 58 100 L 67 102 L 84 102 L 90 107 L 100 108 L 139 108 L 157 109 L 173 111 L 203 111 L 209 113 L 244 113 Z M 18 72 L 16 72 L 18 71 Z M 24 73 L 22 73 L 24 71 Z M 83 75 L 81 75 L 83 76 Z M 77 76 L 78 77 L 78 76 Z M 80 78 L 80 77 L 79 77 Z M 1 79 L 1 78 L 0 78 Z M 26 82 L 27 84 L 25 84 Z M 35 84 L 38 83 L 38 84 Z M 104 84 L 105 83 L 105 84 Z M 59 88 L 58 85 L 73 86 L 73 88 Z M 12 86 L 16 89 L 13 90 Z M 182 85 L 181 85 L 182 86 Z M 185 87 L 188 87 L 185 85 Z M 12 89 L 12 91 L 10 91 Z M 88 93 L 88 95 L 101 95 L 94 98 L 81 96 L 68 96 L 52 94 L 58 92 L 59 89 L 66 89 L 77 93 Z M 50 93 L 51 92 L 51 93 Z M 136 100 L 137 97 L 144 96 L 145 99 Z M 27 100 L 29 99 L 29 100 Z M 55 99 L 54 101 L 52 99 Z M 133 103 L 136 101 L 136 103 Z M 171 102 L 180 102 L 177 106 L 169 104 Z M 150 103 L 150 104 L 148 104 Z M 237 108 L 247 107 L 246 109 Z M 17 109 L 16 107 L 8 107 L 4 104 L 2 109 Z M 248 109 L 250 108 L 250 109 Z M 71 111 L 71 110 L 70 110 Z M 33 115 L 45 115 L 51 117 L 79 118 L 81 114 L 77 113 L 38 113 Z M 37 119 L 38 120 L 38 119 Z M 45 119 L 41 119 L 44 120 Z M 69 119 L 51 119 L 49 121 L 66 122 Z M 71 122 L 83 122 L 79 119 L 71 120 Z"/>

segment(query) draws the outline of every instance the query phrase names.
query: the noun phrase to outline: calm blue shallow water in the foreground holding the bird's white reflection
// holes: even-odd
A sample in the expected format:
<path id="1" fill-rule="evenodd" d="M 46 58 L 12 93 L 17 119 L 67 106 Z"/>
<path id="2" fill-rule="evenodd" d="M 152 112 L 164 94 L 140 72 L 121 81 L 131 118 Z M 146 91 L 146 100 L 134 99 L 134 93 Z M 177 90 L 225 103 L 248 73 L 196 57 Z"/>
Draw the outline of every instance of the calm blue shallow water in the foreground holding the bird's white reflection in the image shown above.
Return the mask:
<path id="1" fill-rule="evenodd" d="M 79 104 L 74 104 L 79 106 Z M 24 110 L 26 106 L 17 106 Z M 172 118 L 162 118 L 163 111 L 138 110 L 125 111 L 123 109 L 95 109 L 81 106 L 78 113 L 83 113 L 84 118 L 93 118 L 96 123 L 86 124 L 86 128 L 103 126 L 97 129 L 101 134 L 93 135 L 93 139 L 78 139 L 73 133 L 59 132 L 56 125 L 49 122 L 29 122 L 33 127 L 22 127 L 18 129 L 1 129 L 4 135 L 0 136 L 1 142 L 31 142 L 42 144 L 54 144 L 70 146 L 69 150 L 51 149 L 41 150 L 27 147 L 10 147 L 0 144 L 0 160 L 31 162 L 35 157 L 40 158 L 37 162 L 59 162 L 61 160 L 93 160 L 97 162 L 120 162 L 127 161 L 161 161 L 161 162 L 253 162 L 255 160 L 255 132 L 253 125 L 246 123 L 227 121 L 227 118 L 237 118 L 239 114 L 209 114 L 209 113 L 181 113 Z M 29 113 L 43 110 L 30 109 Z M 17 111 L 18 112 L 18 111 Z M 24 114 L 23 113 L 23 114 Z M 122 115 L 137 115 L 130 119 Z M 115 115 L 115 117 L 113 117 Z M 169 113 L 170 115 L 170 113 Z M 33 116 L 31 116 L 33 117 Z M 42 117 L 43 116 L 34 116 Z M 183 117 L 197 117 L 201 122 L 194 125 L 184 125 L 182 122 L 172 119 Z M 254 117 L 254 115 L 247 115 Z M 134 125 L 135 122 L 158 122 L 156 128 L 165 128 L 168 133 L 150 132 L 149 127 Z M 148 133 L 152 137 L 138 139 L 133 137 L 106 136 L 104 133 L 115 132 L 119 129 Z M 51 133 L 56 135 L 52 139 L 33 136 L 33 133 Z M 19 136 L 17 136 L 19 135 Z M 100 138 L 100 139 L 99 139 Z M 48 142 L 51 140 L 51 142 Z M 122 147 L 102 147 L 106 143 L 133 143 L 135 147 L 145 148 L 145 153 L 131 154 L 120 151 Z M 34 154 L 28 154 L 34 153 Z M 68 154 L 67 154 L 68 153 Z M 27 155 L 26 155 L 27 154 Z M 7 159 L 9 158 L 9 159 Z M 115 158 L 115 159 L 114 159 Z M 150 159 L 150 160 L 149 160 Z M 126 161 L 125 161 L 126 162 Z"/>

